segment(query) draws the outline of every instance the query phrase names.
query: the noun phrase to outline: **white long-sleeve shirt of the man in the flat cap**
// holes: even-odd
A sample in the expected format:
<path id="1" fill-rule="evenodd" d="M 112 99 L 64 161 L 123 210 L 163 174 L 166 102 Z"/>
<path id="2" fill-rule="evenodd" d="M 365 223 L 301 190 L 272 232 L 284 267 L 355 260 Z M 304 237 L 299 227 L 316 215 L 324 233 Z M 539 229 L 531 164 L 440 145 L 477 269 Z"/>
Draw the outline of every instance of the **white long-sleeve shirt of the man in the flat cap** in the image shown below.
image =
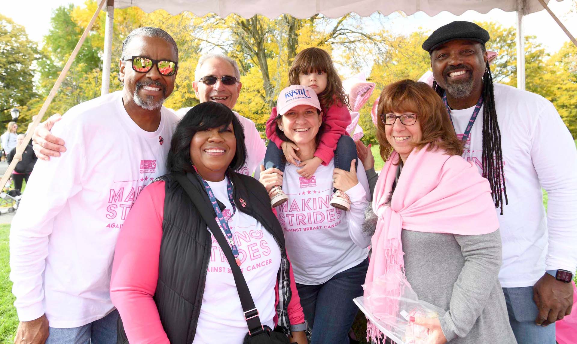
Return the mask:
<path id="1" fill-rule="evenodd" d="M 577 268 L 577 150 L 553 104 L 542 96 L 494 84 L 508 204 L 497 208 L 503 241 L 503 287 L 533 286 L 546 270 Z M 451 110 L 460 138 L 474 107 Z M 463 158 L 482 173 L 481 109 Z M 548 211 L 541 188 L 549 195 Z"/>

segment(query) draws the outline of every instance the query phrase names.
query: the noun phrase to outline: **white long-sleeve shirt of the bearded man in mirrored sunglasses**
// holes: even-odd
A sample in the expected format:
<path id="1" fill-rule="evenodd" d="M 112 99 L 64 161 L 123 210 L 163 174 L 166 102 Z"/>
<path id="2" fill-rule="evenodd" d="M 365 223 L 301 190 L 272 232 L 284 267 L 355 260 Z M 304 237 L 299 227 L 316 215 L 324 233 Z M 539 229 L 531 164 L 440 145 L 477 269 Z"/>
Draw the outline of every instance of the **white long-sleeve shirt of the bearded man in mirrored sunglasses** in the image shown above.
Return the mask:
<path id="1" fill-rule="evenodd" d="M 178 118 L 161 110 L 146 132 L 129 117 L 122 91 L 70 109 L 53 134 L 68 150 L 39 160 L 10 229 L 10 279 L 21 321 L 44 313 L 71 328 L 113 311 L 110 274 L 117 235 L 138 193 L 165 173 Z"/>

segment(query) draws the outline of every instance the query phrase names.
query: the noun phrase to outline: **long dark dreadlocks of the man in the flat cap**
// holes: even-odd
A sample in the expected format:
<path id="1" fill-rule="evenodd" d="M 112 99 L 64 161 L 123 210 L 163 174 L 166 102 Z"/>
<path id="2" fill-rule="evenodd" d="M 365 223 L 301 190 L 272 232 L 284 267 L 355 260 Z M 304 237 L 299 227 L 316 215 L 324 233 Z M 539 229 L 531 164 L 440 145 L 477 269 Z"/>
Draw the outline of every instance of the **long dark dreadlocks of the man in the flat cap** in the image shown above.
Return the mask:
<path id="1" fill-rule="evenodd" d="M 485 53 L 485 46 L 481 44 Z M 445 90 L 433 81 L 433 89 L 443 98 Z M 485 74 L 483 75 L 483 153 L 481 160 L 483 164 L 483 177 L 489 180 L 491 194 L 495 201 L 495 208 L 500 207 L 503 215 L 503 197 L 505 204 L 507 200 L 507 188 L 503 173 L 503 149 L 501 149 L 501 130 L 497 121 L 497 111 L 495 110 L 495 98 L 493 95 L 493 76 L 489 62 L 486 62 Z M 501 186 L 502 185 L 502 186 Z"/>

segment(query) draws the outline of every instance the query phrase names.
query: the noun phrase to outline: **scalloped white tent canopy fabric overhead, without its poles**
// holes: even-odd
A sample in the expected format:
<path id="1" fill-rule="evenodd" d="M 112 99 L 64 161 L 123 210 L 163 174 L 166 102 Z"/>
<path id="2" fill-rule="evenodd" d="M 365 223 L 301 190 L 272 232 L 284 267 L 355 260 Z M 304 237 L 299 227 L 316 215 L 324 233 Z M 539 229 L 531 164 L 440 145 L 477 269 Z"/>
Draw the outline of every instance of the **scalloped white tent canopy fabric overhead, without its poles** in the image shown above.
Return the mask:
<path id="1" fill-rule="evenodd" d="M 494 8 L 512 12 L 518 9 L 518 2 L 518 0 L 114 0 L 114 7 L 138 6 L 145 12 L 163 9 L 173 15 L 188 10 L 197 16 L 216 13 L 220 17 L 226 17 L 228 14 L 237 13 L 245 18 L 250 18 L 254 14 L 276 18 L 283 13 L 288 13 L 293 17 L 306 18 L 322 13 L 327 17 L 336 18 L 349 12 L 370 16 L 377 10 L 383 14 L 398 10 L 406 14 L 422 11 L 429 16 L 443 11 L 456 15 L 467 10 L 487 13 Z M 524 14 L 543 9 L 538 0 L 523 2 Z M 549 0 L 545 2 L 548 3 Z"/>

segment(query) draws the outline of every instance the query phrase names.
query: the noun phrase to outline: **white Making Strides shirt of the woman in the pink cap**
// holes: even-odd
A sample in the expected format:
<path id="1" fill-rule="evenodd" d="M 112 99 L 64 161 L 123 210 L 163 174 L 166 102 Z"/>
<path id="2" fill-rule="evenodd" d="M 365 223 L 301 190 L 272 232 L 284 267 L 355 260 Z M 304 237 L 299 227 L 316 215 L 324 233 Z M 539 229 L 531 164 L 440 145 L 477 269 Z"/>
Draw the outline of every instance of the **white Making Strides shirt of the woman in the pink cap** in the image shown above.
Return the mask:
<path id="1" fill-rule="evenodd" d="M 294 279 L 304 285 L 320 285 L 332 276 L 362 263 L 368 256 L 370 237 L 362 233 L 370 192 L 365 168 L 358 162 L 357 185 L 346 191 L 350 211 L 332 207 L 332 173 L 335 159 L 317 167 L 309 179 L 300 167 L 287 164 L 283 192 L 288 201 L 276 207 Z M 259 175 L 255 174 L 255 178 Z"/>

